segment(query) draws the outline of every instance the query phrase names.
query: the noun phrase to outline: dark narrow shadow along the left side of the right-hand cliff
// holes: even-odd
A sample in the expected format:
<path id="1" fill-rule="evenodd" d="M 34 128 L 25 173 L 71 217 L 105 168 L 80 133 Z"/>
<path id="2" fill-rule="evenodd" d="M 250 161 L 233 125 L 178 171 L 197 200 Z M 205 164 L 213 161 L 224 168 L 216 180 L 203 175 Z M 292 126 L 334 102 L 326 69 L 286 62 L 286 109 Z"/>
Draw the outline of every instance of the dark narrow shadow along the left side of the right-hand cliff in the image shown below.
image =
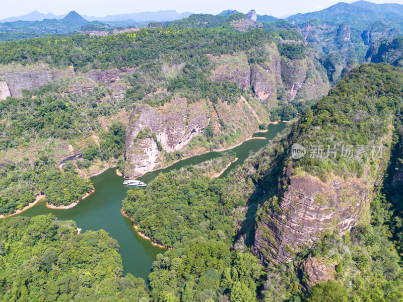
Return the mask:
<path id="1" fill-rule="evenodd" d="M 245 220 L 242 222 L 235 239 L 237 242 L 244 242 L 247 247 L 253 245 L 255 235 L 255 220 L 257 210 L 268 200 L 279 194 L 279 179 L 283 174 L 283 168 L 289 155 L 289 148 L 275 155 L 273 160 L 268 161 L 265 167 L 259 167 L 260 163 L 254 165 L 256 172 L 254 178 L 255 190 L 247 202 Z"/>

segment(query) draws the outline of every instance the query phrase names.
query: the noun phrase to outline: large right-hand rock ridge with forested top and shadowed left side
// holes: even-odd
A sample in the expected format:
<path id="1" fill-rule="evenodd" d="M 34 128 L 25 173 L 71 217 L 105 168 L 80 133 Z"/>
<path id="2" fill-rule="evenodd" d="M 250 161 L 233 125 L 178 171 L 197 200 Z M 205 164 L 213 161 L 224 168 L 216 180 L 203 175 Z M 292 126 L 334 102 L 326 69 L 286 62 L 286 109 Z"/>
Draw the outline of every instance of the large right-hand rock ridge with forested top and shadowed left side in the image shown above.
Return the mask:
<path id="1" fill-rule="evenodd" d="M 313 107 L 309 117 L 302 117 L 301 124 L 290 125 L 288 132 L 278 137 L 273 146 L 263 149 L 242 170 L 244 176 L 240 179 L 253 175 L 256 186 L 254 191 L 253 187 L 252 191 L 244 191 L 251 192 L 261 206 L 256 214 L 253 252 L 263 263 L 291 261 L 298 252 L 315 244 L 324 234 L 343 233 L 359 221 L 369 219 L 372 194 L 390 156 L 393 127 L 390 114 L 373 112 L 378 94 L 383 93 L 382 88 L 367 92 L 367 87 L 379 83 L 380 78 L 375 78 L 380 77 L 380 72 L 395 77 L 386 80 L 388 85 L 399 85 L 401 75 L 397 68 L 385 65 L 361 66 L 353 71 L 330 90 L 328 97 Z M 359 91 L 354 94 L 350 89 Z M 400 95 L 400 90 L 397 89 L 396 93 Z M 364 95 L 367 99 L 362 101 Z M 355 98 L 356 105 L 351 105 L 349 97 Z M 324 116 L 329 111 L 341 118 L 341 112 L 347 112 L 345 108 L 349 108 L 351 115 L 349 126 L 340 128 L 338 123 L 333 125 L 330 120 L 317 122 L 322 118 L 326 120 Z M 363 124 L 377 126 L 364 134 L 360 130 Z M 337 152 L 341 157 L 330 160 L 325 154 L 321 158 L 315 157 L 309 150 L 316 144 L 325 148 L 327 144 L 331 145 L 330 148 L 335 144 L 342 147 L 352 133 L 364 135 L 370 146 L 382 146 L 382 155 L 370 158 L 368 152 L 367 160 L 354 153 L 355 157 L 346 160 L 340 148 Z M 306 147 L 305 157 L 292 158 L 291 146 L 295 143 Z M 349 172 L 342 168 L 347 166 L 359 168 Z M 274 187 L 277 189 L 274 190 Z"/>

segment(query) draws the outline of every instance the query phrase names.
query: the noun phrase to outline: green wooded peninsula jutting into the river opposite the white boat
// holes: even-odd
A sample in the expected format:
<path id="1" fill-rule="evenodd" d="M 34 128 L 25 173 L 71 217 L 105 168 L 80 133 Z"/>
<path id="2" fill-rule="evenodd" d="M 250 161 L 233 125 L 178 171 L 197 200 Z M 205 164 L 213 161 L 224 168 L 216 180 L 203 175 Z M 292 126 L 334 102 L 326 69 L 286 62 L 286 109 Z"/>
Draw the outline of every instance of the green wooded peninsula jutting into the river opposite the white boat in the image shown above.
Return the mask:
<path id="1" fill-rule="evenodd" d="M 227 152 L 204 164 L 160 173 L 145 190 L 128 191 L 123 211 L 140 232 L 164 246 L 198 237 L 230 244 L 235 235 L 229 217 L 233 206 L 226 205 L 220 196 L 222 181 L 211 177 L 234 158 Z"/>

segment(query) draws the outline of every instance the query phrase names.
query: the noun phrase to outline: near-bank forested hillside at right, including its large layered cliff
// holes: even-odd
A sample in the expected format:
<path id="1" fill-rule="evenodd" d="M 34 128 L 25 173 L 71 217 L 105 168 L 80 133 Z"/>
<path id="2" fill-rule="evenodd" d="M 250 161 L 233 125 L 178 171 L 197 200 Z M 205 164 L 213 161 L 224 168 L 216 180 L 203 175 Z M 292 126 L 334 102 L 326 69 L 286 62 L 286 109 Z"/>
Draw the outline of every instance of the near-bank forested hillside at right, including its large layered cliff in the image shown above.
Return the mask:
<path id="1" fill-rule="evenodd" d="M 168 175 L 160 175 L 146 194 L 141 190 L 129 192 L 123 206 L 132 208 L 129 215 L 136 217 L 135 223 L 142 226 L 142 231 L 170 246 L 176 242 L 172 245 L 174 250 L 154 264 L 155 272 L 150 275 L 152 297 L 161 301 L 176 300 L 175 295 L 185 299 L 191 292 L 200 301 L 403 298 L 401 215 L 399 197 L 392 189 L 401 185 L 400 169 L 398 173 L 392 170 L 396 157 L 401 156 L 402 93 L 403 75 L 399 69 L 386 64 L 357 67 L 327 97 L 307 109 L 299 122 L 291 124 L 272 144 L 226 178 L 200 183 L 203 178 L 183 170 L 180 174 L 190 182 L 168 185 Z M 311 159 L 307 154 L 295 161 L 290 149 L 295 142 L 340 147 L 343 143 L 381 143 L 383 154 L 352 159 L 340 155 Z M 396 155 L 389 160 L 391 154 Z M 173 179 L 180 180 L 178 176 Z M 329 196 L 326 190 L 334 190 L 330 194 L 335 196 Z M 151 198 L 153 206 L 141 209 Z M 210 211 L 200 209 L 205 212 L 204 218 L 191 213 L 193 200 L 210 203 Z M 170 215 L 172 221 L 161 220 L 159 207 L 154 204 L 169 204 L 175 211 Z M 231 225 L 229 222 L 223 224 L 222 217 L 214 217 L 214 207 L 221 207 L 221 215 L 231 221 L 233 235 L 225 229 Z M 306 214 L 308 220 L 304 218 Z M 141 218 L 142 215 L 149 218 Z M 189 223 L 194 223 L 194 231 L 189 230 Z M 176 239 L 177 230 L 182 232 L 180 240 Z M 204 230 L 203 235 L 200 230 Z M 268 267 L 266 275 L 241 272 L 238 262 L 228 264 L 229 255 L 222 264 L 216 263 L 225 255 L 220 252 L 217 256 L 218 246 L 212 243 L 217 240 L 216 234 L 219 245 L 230 239 L 230 246 L 244 252 L 244 257 L 252 249 Z M 192 236 L 204 239 L 192 240 Z M 199 253 L 204 249 L 209 252 L 202 256 Z M 188 257 L 201 258 L 208 265 L 193 266 Z M 281 264 L 285 259 L 289 262 Z M 232 268 L 227 272 L 228 265 Z M 199 267 L 205 268 L 199 272 Z"/>

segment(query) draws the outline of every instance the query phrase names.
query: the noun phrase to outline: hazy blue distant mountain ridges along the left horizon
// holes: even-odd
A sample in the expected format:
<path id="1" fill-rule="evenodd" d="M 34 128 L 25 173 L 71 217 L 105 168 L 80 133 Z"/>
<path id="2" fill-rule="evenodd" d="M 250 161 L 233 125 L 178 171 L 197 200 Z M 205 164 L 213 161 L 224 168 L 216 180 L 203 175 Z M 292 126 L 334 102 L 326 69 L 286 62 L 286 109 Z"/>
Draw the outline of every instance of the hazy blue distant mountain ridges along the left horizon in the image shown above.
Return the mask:
<path id="1" fill-rule="evenodd" d="M 103 22 L 115 22 L 115 21 L 126 21 L 133 20 L 136 22 L 147 22 L 147 21 L 173 21 L 189 17 L 192 13 L 184 12 L 179 14 L 175 10 L 169 11 L 158 11 L 158 12 L 142 12 L 142 13 L 132 13 L 132 14 L 120 14 L 120 15 L 108 15 L 106 17 L 94 17 L 81 15 L 87 21 L 103 21 Z M 43 21 L 44 19 L 63 19 L 66 15 L 54 15 L 52 13 L 42 14 L 38 11 L 34 11 L 24 16 L 11 17 L 7 19 L 0 20 L 0 23 L 5 22 L 15 22 L 15 21 Z"/>

